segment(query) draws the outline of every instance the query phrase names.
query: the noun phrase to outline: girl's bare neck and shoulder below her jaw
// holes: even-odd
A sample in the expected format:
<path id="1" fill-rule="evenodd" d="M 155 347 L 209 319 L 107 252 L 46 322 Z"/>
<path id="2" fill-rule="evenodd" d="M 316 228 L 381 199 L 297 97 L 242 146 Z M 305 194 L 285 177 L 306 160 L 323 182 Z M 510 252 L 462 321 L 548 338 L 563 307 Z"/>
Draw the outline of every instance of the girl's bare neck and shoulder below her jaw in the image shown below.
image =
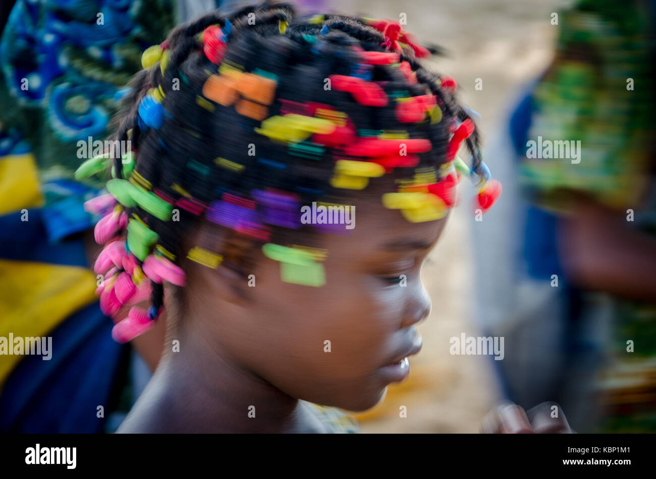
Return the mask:
<path id="1" fill-rule="evenodd" d="M 239 366 L 216 345 L 190 336 L 176 334 L 180 352 L 166 348 L 154 376 L 119 432 L 325 431 L 302 401 Z"/>

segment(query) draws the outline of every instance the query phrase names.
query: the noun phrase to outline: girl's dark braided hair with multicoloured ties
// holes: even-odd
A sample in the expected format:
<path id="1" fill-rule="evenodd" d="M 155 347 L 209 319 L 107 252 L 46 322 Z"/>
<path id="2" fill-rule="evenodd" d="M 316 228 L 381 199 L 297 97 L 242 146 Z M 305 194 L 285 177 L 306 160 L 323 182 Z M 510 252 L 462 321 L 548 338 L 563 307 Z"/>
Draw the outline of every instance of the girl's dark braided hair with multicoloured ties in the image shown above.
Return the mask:
<path id="1" fill-rule="evenodd" d="M 203 216 L 267 243 L 265 254 L 281 263 L 297 255 L 290 261 L 305 264 L 316 253 L 281 247 L 276 238 L 312 230 L 298 224 L 297 205 L 338 202 L 344 188 L 367 184 L 361 176 L 385 171 L 400 185 L 396 194 L 434 194 L 413 196 L 421 198 L 419 206 L 403 205 L 407 196 L 384 198 L 411 221 L 436 219 L 436 204 L 451 205 L 447 190 L 457 183 L 453 157 L 461 141 L 472 160 L 463 168 L 457 158 L 459 171 L 470 175 L 484 166 L 474 122 L 455 99 L 453 79 L 426 70 L 406 37 L 408 43 L 390 51 L 394 28 L 383 33 L 380 22 L 370 23 L 344 15 L 298 18 L 291 5 L 265 1 L 206 14 L 144 53 L 145 69 L 115 119 L 113 139 L 130 141 L 135 154 L 113 158 L 108 182 L 122 204 L 110 215 L 122 220 L 110 222 L 110 234 L 101 239 L 118 234 L 110 241 L 119 240 L 129 224 L 125 252 L 110 243 L 122 259 L 112 260 L 116 279 L 101 294 L 106 313 L 138 296 L 145 273 L 152 280 L 152 322 L 163 306 L 163 280 L 182 282 L 182 235 Z M 276 130 L 281 125 L 283 133 Z M 400 145 L 409 159 L 397 164 Z M 361 167 L 367 172 L 351 171 Z M 489 172 L 482 185 L 491 185 Z M 417 219 L 425 209 L 428 217 Z M 222 260 L 197 248 L 188 258 L 212 267 Z M 143 313 L 132 313 L 125 321 L 146 322 Z M 129 340 L 145 328 L 115 338 Z"/>

